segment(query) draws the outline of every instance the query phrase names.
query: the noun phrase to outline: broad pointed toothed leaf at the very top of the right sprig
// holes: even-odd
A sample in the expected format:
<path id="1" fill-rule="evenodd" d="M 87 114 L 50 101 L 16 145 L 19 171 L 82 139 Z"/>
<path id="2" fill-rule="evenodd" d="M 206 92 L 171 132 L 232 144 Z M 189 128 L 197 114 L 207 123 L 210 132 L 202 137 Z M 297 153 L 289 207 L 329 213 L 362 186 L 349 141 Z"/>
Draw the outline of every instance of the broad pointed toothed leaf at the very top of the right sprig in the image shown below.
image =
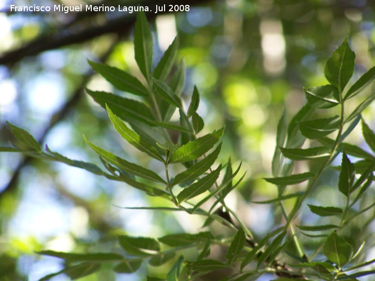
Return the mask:
<path id="1" fill-rule="evenodd" d="M 342 93 L 353 75 L 354 59 L 355 54 L 350 49 L 348 38 L 345 38 L 326 63 L 324 75 L 333 86 L 338 88 L 339 93 Z"/>

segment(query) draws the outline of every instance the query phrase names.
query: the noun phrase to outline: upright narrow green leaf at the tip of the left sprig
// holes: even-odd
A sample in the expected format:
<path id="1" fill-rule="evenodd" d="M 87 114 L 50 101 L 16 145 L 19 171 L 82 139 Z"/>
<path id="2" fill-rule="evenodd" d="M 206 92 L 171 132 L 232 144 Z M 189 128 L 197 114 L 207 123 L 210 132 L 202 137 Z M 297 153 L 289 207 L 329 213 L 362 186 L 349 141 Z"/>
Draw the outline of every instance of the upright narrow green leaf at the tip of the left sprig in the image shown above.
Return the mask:
<path id="1" fill-rule="evenodd" d="M 138 12 L 134 27 L 134 56 L 143 76 L 149 82 L 152 65 L 152 35 L 143 11 Z"/>

